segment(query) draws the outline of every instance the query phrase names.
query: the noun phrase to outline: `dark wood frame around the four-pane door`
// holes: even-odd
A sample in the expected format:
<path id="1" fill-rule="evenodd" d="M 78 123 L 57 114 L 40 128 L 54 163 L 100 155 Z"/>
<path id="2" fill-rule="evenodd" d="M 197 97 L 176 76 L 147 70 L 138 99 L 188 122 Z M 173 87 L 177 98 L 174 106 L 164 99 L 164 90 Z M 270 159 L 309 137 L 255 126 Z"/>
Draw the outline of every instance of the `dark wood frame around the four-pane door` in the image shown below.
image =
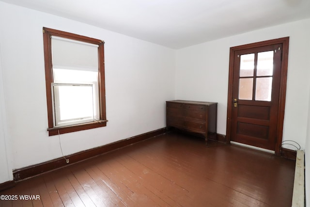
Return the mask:
<path id="1" fill-rule="evenodd" d="M 228 80 L 228 101 L 227 101 L 227 125 L 226 136 L 227 141 L 231 141 L 231 125 L 232 125 L 232 106 L 233 106 L 233 61 L 234 53 L 237 50 L 257 48 L 267 45 L 282 44 L 282 63 L 281 63 L 281 75 L 280 75 L 280 91 L 279 91 L 279 113 L 277 124 L 277 142 L 275 148 L 275 154 L 280 155 L 281 143 L 283 136 L 283 122 L 284 122 L 284 109 L 285 109 L 285 97 L 286 97 L 286 80 L 287 80 L 287 67 L 288 67 L 288 55 L 289 55 L 289 37 L 283 37 L 279 39 L 267 40 L 257 43 L 251 43 L 247 45 L 241 45 L 230 48 L 229 56 L 229 80 Z"/>

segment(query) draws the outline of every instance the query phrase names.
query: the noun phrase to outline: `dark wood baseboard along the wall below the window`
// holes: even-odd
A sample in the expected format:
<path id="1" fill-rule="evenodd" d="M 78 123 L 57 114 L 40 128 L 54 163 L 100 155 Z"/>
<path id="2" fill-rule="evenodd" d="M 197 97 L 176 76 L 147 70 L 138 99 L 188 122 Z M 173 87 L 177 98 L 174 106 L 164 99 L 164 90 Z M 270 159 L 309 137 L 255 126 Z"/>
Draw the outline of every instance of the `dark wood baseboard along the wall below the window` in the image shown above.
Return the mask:
<path id="1" fill-rule="evenodd" d="M 77 163 L 79 161 L 85 160 L 85 159 L 90 159 L 95 156 L 107 153 L 109 151 L 119 149 L 125 146 L 128 146 L 130 144 L 138 143 L 143 140 L 164 134 L 167 132 L 166 127 L 160 128 L 154 131 L 150 131 L 144 134 L 140 134 L 134 137 L 130 137 L 124 140 L 120 140 L 114 143 L 109 143 L 103 146 L 95 147 L 93 149 L 85 150 L 82 152 L 74 153 L 72 155 L 66 156 L 67 159 L 70 160 L 69 164 Z M 52 159 L 46 162 L 42 162 L 39 164 L 31 165 L 28 167 L 16 169 L 13 171 L 13 177 L 15 181 L 18 180 L 23 180 L 26 178 L 33 177 L 35 175 L 40 175 L 52 170 L 56 170 L 59 168 L 62 168 L 64 166 L 67 166 L 68 163 L 66 163 L 66 160 L 63 158 L 57 158 L 57 159 Z"/>

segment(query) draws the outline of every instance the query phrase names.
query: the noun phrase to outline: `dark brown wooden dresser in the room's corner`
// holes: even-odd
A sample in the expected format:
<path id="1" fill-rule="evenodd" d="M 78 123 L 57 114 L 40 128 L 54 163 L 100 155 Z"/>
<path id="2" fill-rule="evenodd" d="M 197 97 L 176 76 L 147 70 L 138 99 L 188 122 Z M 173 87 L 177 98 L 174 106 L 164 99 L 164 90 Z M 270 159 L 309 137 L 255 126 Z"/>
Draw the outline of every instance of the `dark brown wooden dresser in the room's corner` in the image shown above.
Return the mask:
<path id="1" fill-rule="evenodd" d="M 166 101 L 167 128 L 175 127 L 208 137 L 217 137 L 217 103 L 201 101 Z"/>

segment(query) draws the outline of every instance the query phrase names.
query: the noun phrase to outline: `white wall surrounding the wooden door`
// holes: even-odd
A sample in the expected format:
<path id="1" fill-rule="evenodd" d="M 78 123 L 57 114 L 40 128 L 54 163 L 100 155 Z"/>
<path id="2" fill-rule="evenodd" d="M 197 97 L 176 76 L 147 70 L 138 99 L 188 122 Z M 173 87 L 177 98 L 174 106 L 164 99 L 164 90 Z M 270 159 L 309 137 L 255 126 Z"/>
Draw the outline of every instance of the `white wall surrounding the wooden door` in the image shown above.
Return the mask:
<path id="1" fill-rule="evenodd" d="M 290 46 L 283 141 L 294 140 L 304 149 L 310 88 L 310 19 L 178 50 L 176 98 L 218 102 L 217 132 L 225 135 L 229 49 L 286 36 L 290 36 Z"/>

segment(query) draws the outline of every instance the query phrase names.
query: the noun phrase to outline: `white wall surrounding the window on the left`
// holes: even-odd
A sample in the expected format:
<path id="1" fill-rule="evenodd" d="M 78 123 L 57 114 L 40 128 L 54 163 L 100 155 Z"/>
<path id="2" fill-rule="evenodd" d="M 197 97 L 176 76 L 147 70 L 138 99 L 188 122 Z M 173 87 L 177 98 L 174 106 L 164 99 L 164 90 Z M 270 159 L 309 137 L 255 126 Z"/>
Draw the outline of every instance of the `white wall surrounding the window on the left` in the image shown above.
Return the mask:
<path id="1" fill-rule="evenodd" d="M 43 27 L 106 42 L 109 122 L 107 127 L 61 135 L 65 155 L 166 126 L 165 101 L 174 99 L 174 49 L 0 2 L 3 89 L 12 169 L 62 157 L 58 136 L 48 137 L 47 133 Z"/>

